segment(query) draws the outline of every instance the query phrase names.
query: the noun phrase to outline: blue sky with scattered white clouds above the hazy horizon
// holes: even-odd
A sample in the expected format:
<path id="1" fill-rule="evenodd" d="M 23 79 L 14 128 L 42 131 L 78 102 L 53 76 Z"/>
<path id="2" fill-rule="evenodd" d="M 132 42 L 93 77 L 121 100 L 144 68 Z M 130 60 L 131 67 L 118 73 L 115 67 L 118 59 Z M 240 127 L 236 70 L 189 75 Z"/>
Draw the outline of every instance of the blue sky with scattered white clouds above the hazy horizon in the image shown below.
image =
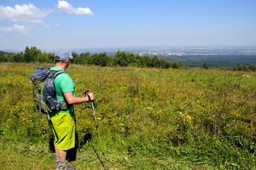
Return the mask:
<path id="1" fill-rule="evenodd" d="M 0 0 L 0 50 L 256 46 L 255 0 Z"/>

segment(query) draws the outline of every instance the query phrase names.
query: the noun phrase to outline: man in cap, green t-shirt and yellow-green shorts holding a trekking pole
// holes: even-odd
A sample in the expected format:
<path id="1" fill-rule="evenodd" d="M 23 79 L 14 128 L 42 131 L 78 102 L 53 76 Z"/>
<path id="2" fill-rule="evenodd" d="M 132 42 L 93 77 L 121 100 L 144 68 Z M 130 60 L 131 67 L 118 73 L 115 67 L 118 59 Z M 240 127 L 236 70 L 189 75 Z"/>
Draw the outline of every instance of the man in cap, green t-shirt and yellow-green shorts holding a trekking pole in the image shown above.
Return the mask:
<path id="1" fill-rule="evenodd" d="M 52 70 L 65 70 L 69 67 L 70 59 L 72 59 L 66 51 L 59 52 L 55 55 L 55 67 Z M 57 100 L 65 101 L 67 109 L 55 111 L 50 114 L 50 128 L 52 130 L 57 169 L 78 169 L 65 164 L 67 150 L 75 147 L 75 122 L 73 104 L 89 102 L 94 99 L 94 94 L 87 94 L 86 97 L 78 98 L 74 92 L 74 81 L 69 77 L 69 74 L 62 73 L 55 78 L 55 89 Z"/>

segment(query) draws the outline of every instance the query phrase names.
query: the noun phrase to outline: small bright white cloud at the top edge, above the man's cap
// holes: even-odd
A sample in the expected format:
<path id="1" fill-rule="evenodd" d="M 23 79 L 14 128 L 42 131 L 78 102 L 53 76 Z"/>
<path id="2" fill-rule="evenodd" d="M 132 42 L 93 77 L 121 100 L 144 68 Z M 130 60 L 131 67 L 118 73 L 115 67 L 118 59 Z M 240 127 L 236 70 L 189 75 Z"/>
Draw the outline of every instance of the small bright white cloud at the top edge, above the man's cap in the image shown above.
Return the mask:
<path id="1" fill-rule="evenodd" d="M 93 16 L 94 13 L 91 12 L 91 9 L 87 8 L 74 8 L 71 4 L 69 4 L 67 1 L 58 1 L 57 8 L 65 13 L 69 14 L 76 14 L 76 15 L 88 15 Z"/>

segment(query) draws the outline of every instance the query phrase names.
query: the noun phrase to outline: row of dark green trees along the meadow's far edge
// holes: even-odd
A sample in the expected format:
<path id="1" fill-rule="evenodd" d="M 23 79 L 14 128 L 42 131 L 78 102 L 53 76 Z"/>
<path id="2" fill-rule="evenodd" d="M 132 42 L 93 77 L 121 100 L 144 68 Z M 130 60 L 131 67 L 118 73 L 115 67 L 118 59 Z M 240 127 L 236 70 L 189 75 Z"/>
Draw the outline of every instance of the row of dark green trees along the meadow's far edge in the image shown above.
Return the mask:
<path id="1" fill-rule="evenodd" d="M 99 54 L 90 54 L 89 52 L 82 52 L 77 54 L 77 52 L 72 52 L 72 63 L 74 64 L 93 64 L 101 67 L 156 67 L 156 68 L 185 68 L 182 61 L 167 62 L 165 58 L 159 58 L 157 55 L 150 57 L 149 55 L 135 55 L 133 52 L 124 52 L 118 50 L 116 54 L 111 57 L 106 54 L 106 52 Z M 55 54 L 53 52 L 42 52 L 36 47 L 26 47 L 24 52 L 18 53 L 6 53 L 0 52 L 0 62 L 39 62 L 39 63 L 54 63 Z M 210 69 L 215 67 L 208 67 L 207 63 L 201 67 L 204 69 Z M 252 71 L 256 72 L 255 64 L 250 66 L 244 64 L 237 64 L 233 67 L 221 67 L 219 69 L 230 70 L 230 71 Z"/>

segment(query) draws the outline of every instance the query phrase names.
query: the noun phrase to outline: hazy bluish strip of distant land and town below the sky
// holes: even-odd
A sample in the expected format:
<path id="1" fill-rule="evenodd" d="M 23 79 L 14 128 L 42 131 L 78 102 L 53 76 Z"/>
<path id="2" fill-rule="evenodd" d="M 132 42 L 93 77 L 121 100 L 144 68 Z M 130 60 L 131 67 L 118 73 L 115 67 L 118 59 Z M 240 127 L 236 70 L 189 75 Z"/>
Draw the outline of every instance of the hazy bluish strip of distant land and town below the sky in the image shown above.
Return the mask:
<path id="1" fill-rule="evenodd" d="M 32 46 L 31 46 L 32 47 Z M 30 47 L 28 47 L 30 48 Z M 36 47 L 41 52 L 59 52 L 60 50 L 67 50 L 68 52 L 76 52 L 81 54 L 82 52 L 89 52 L 90 54 L 100 54 L 106 52 L 108 55 L 113 55 L 113 53 L 120 51 L 132 52 L 140 55 L 157 55 L 157 56 L 168 56 L 175 55 L 174 53 L 179 53 L 179 55 L 256 55 L 256 46 L 147 46 L 147 47 L 87 47 L 87 48 L 74 48 L 74 49 L 52 49 L 52 50 L 42 50 Z M 1 50 L 0 52 L 25 52 L 24 50 Z M 163 55 L 163 53 L 165 55 Z"/>

